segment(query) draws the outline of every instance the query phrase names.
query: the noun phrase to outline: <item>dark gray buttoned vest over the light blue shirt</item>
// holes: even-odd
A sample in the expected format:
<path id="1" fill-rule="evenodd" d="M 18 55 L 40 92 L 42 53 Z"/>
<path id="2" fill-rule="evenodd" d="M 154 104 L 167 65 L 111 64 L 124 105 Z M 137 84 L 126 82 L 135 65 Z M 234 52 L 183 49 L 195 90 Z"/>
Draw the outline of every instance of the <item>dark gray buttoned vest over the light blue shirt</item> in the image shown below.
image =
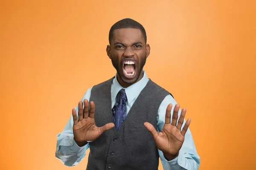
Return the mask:
<path id="1" fill-rule="evenodd" d="M 90 101 L 95 103 L 95 124 L 113 123 L 111 83 L 113 78 L 93 86 Z M 159 155 L 151 133 L 143 125 L 151 123 L 157 129 L 157 112 L 167 92 L 149 79 L 131 107 L 125 121 L 90 142 L 86 170 L 157 170 Z"/>

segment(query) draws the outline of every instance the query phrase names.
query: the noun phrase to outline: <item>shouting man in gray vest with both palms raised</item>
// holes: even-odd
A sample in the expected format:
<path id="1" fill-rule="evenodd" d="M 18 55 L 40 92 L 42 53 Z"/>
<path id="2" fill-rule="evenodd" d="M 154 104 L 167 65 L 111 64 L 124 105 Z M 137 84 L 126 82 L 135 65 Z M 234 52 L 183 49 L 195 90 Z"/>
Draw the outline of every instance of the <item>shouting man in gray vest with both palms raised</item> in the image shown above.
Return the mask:
<path id="1" fill-rule="evenodd" d="M 165 170 L 198 169 L 186 109 L 143 70 L 146 40 L 132 19 L 111 27 L 106 51 L 117 73 L 87 90 L 57 135 L 56 157 L 65 165 L 78 164 L 90 147 L 86 170 L 157 170 L 159 156 Z"/>

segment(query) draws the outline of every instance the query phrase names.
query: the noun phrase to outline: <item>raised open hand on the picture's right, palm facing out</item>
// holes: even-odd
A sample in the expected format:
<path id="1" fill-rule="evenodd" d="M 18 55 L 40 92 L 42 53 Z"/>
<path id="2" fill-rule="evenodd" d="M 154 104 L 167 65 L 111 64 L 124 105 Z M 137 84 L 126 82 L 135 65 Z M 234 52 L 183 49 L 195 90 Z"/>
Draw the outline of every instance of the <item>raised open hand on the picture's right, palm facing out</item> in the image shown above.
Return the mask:
<path id="1" fill-rule="evenodd" d="M 170 123 L 172 104 L 168 105 L 166 109 L 165 124 L 160 133 L 155 130 L 152 124 L 148 122 L 144 123 L 144 126 L 152 134 L 157 148 L 161 150 L 164 156 L 169 160 L 172 160 L 178 156 L 179 150 L 184 142 L 185 133 L 188 130 L 191 122 L 191 119 L 188 119 L 183 129 L 180 131 L 186 115 L 186 109 L 182 109 L 179 121 L 177 123 L 179 109 L 180 105 L 176 104 L 172 115 L 172 123 Z"/>

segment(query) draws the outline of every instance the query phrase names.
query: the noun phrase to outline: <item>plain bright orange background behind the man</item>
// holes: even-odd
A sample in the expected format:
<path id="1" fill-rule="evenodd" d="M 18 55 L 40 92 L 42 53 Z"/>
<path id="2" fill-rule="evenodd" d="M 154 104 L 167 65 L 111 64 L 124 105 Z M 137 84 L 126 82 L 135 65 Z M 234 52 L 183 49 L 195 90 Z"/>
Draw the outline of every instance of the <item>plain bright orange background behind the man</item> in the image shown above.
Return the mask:
<path id="1" fill-rule="evenodd" d="M 56 135 L 115 74 L 105 49 L 125 17 L 147 32 L 148 77 L 192 118 L 199 169 L 255 169 L 254 0 L 1 1 L 0 169 L 85 170 L 87 157 L 71 168 L 55 158 Z"/>

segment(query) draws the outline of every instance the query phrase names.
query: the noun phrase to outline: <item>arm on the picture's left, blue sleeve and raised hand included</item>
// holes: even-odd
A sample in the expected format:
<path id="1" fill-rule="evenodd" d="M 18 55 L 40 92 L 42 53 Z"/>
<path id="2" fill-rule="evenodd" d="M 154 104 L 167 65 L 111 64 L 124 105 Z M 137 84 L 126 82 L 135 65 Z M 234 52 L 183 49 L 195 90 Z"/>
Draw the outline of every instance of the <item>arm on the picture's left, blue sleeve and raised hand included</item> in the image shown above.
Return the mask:
<path id="1" fill-rule="evenodd" d="M 82 101 L 79 101 L 78 107 L 72 109 L 72 117 L 63 132 L 57 135 L 56 157 L 67 166 L 74 166 L 84 158 L 85 151 L 89 148 L 88 141 L 96 140 L 102 133 L 115 127 L 113 123 L 96 126 L 95 104 L 93 101 L 89 104 L 89 93 L 90 89 Z"/>

